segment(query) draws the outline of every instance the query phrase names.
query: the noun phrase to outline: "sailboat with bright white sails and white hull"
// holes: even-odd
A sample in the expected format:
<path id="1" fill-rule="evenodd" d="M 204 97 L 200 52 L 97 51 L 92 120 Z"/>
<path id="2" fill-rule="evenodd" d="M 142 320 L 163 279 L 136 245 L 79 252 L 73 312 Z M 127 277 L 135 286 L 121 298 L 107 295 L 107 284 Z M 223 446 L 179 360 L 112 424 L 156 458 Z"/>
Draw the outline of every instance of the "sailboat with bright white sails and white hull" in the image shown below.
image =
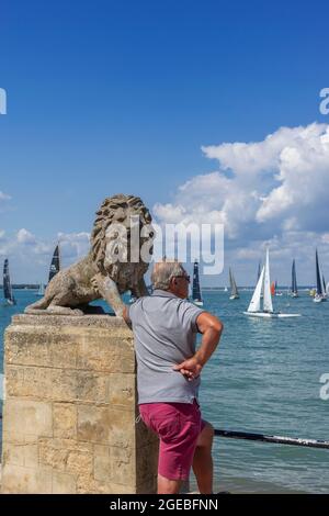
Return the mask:
<path id="1" fill-rule="evenodd" d="M 261 293 L 263 292 L 263 309 L 261 310 Z M 258 283 L 256 285 L 252 299 L 250 301 L 247 312 L 245 315 L 251 317 L 298 317 L 300 314 L 283 314 L 281 312 L 274 312 L 271 295 L 271 280 L 270 280 L 270 257 L 269 249 L 266 249 L 265 265 L 262 268 Z"/>

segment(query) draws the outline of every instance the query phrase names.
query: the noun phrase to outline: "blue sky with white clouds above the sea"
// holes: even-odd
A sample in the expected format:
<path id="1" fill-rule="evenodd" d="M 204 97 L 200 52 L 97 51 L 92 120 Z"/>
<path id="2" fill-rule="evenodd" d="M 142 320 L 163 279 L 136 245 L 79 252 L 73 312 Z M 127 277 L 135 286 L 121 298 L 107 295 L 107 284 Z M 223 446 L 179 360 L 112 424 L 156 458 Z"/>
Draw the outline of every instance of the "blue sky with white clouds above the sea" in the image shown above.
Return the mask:
<path id="1" fill-rule="evenodd" d="M 140 195 L 159 224 L 224 224 L 252 284 L 265 245 L 287 284 L 329 278 L 325 1 L 1 2 L 0 260 L 45 281 L 83 256 L 94 213 Z M 329 105 L 329 103 L 328 103 Z M 1 111 L 1 110 L 0 110 Z"/>

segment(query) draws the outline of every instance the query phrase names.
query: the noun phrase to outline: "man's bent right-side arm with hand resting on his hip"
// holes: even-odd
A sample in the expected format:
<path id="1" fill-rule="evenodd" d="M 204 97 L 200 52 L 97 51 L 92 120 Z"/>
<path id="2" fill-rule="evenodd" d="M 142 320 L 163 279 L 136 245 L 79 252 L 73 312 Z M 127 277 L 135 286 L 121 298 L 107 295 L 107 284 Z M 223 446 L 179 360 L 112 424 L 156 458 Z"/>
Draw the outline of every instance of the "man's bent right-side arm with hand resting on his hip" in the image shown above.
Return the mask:
<path id="1" fill-rule="evenodd" d="M 196 325 L 198 332 L 203 335 L 200 348 L 192 358 L 173 367 L 175 371 L 180 371 L 189 380 L 198 377 L 202 368 L 215 351 L 224 328 L 222 321 L 208 312 L 202 312 L 198 315 Z"/>

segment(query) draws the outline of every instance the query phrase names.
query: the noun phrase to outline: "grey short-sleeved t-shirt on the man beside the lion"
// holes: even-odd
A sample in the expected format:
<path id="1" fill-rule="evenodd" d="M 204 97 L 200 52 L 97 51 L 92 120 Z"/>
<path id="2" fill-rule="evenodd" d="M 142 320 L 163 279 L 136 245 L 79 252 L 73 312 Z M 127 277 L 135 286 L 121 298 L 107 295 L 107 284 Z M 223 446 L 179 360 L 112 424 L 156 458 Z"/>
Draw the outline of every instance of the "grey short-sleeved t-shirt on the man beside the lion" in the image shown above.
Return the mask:
<path id="1" fill-rule="evenodd" d="M 137 358 L 138 403 L 193 403 L 200 377 L 189 381 L 174 364 L 195 352 L 196 318 L 204 312 L 171 292 L 155 290 L 128 307 Z"/>

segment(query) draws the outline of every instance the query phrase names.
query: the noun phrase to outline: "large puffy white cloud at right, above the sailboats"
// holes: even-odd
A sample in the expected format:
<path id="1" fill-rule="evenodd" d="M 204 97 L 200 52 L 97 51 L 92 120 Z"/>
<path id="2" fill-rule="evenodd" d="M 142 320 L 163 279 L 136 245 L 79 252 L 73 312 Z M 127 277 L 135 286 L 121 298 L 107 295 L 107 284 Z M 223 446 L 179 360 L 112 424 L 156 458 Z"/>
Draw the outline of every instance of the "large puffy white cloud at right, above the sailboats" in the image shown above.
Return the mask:
<path id="1" fill-rule="evenodd" d="M 156 204 L 160 222 L 224 222 L 226 235 L 237 238 L 247 224 L 309 228 L 315 213 L 329 211 L 327 124 L 281 127 L 263 142 L 202 148 L 219 170 L 186 181 L 173 202 Z"/>

